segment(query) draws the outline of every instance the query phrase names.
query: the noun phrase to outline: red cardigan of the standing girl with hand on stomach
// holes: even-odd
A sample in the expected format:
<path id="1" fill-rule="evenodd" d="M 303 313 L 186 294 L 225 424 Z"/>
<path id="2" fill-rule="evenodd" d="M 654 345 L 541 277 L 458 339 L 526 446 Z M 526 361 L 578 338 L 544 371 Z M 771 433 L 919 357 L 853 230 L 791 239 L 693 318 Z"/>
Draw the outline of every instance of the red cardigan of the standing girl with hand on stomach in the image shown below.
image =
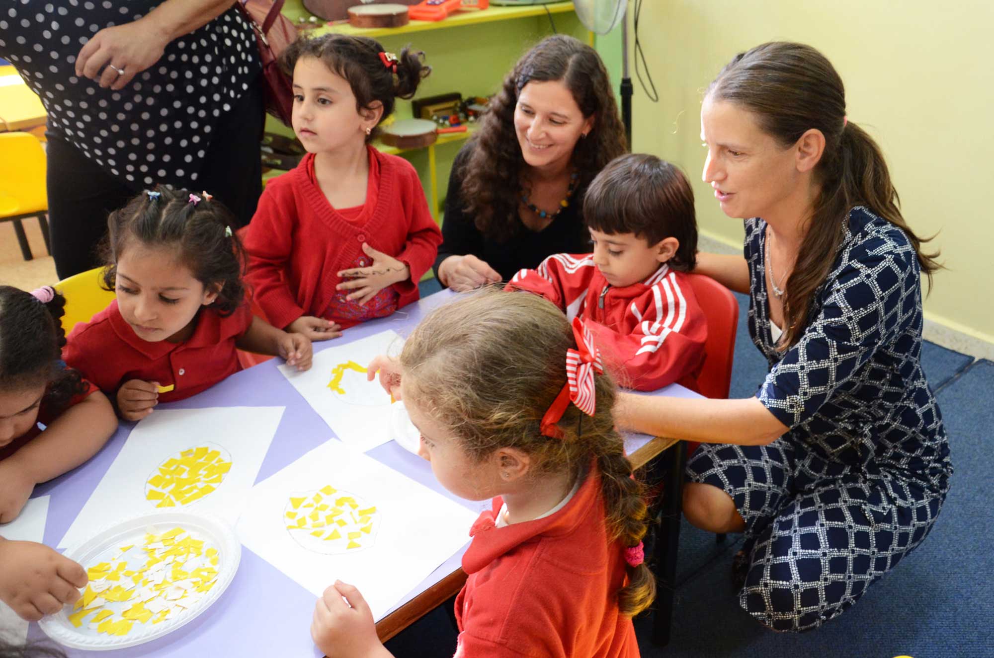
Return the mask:
<path id="1" fill-rule="evenodd" d="M 378 193 L 367 199 L 373 208 L 363 224 L 349 222 L 328 203 L 310 175 L 313 154 L 266 184 L 245 239 L 246 280 L 273 325 L 286 327 L 301 315 L 324 317 L 343 327 L 356 324 L 355 319 L 335 317 L 329 306 L 343 280 L 338 271 L 358 266 L 357 260 L 366 256 L 363 243 L 411 268 L 411 278 L 393 286 L 398 307 L 418 299 L 417 281 L 434 262 L 441 232 L 411 163 L 373 147 L 369 154 L 370 176 L 378 176 L 377 185 L 370 187 Z"/>

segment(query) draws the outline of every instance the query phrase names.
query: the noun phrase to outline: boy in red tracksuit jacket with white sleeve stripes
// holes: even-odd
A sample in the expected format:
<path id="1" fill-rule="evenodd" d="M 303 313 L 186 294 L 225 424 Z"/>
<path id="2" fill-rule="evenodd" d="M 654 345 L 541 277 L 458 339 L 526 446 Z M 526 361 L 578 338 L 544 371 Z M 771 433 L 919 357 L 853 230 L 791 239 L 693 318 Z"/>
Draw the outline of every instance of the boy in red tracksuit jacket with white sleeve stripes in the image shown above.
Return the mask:
<path id="1" fill-rule="evenodd" d="M 593 253 L 553 254 L 506 289 L 582 318 L 620 385 L 696 389 L 708 325 L 685 274 L 697 250 L 687 178 L 652 155 L 620 156 L 590 183 L 583 221 Z"/>

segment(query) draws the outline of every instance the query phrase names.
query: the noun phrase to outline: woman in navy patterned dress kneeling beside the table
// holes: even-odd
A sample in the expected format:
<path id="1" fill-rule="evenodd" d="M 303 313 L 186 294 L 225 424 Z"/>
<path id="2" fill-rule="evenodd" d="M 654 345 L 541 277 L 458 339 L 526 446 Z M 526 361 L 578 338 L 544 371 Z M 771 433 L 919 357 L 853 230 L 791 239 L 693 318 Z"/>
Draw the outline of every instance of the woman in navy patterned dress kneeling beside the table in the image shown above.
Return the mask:
<path id="1" fill-rule="evenodd" d="M 777 631 L 853 605 L 931 530 L 952 465 L 921 371 L 923 271 L 938 267 L 902 218 L 887 164 L 846 117 L 816 50 L 737 56 L 701 110 L 704 179 L 745 219 L 745 258 L 696 271 L 749 294 L 749 334 L 770 371 L 753 398 L 624 396 L 622 423 L 703 441 L 684 513 L 745 532 L 740 604 Z"/>

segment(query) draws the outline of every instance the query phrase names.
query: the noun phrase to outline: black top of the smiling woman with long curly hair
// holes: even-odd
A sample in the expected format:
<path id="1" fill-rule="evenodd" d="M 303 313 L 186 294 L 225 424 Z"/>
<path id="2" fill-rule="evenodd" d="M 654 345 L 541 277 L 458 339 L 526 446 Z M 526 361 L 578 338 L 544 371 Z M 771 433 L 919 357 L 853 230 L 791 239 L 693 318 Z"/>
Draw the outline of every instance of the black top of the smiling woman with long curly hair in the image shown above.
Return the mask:
<path id="1" fill-rule="evenodd" d="M 462 179 L 469 154 L 475 148 L 467 143 L 455 156 L 452 173 L 448 178 L 448 195 L 445 199 L 445 219 L 441 234 L 444 242 L 438 247 L 435 259 L 435 278 L 438 265 L 450 255 L 472 253 L 496 269 L 505 281 L 510 280 L 523 267 L 534 268 L 553 253 L 587 253 L 590 251 L 590 234 L 583 226 L 580 207 L 582 191 L 578 190 L 570 205 L 542 231 L 535 232 L 516 218 L 520 231 L 506 243 L 486 238 L 465 209 L 462 196 Z M 440 282 L 440 279 L 439 279 Z"/>

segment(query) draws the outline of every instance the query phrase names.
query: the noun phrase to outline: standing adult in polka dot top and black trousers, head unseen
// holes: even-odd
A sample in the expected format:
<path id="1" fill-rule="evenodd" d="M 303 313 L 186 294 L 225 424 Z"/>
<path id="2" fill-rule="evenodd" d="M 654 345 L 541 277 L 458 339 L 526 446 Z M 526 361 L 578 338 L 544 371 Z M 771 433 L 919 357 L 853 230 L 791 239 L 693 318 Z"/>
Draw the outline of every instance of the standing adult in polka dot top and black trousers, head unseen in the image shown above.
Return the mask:
<path id="1" fill-rule="evenodd" d="M 48 113 L 60 277 L 96 266 L 107 214 L 160 183 L 207 190 L 248 223 L 264 114 L 233 0 L 10 0 L 0 57 Z"/>

